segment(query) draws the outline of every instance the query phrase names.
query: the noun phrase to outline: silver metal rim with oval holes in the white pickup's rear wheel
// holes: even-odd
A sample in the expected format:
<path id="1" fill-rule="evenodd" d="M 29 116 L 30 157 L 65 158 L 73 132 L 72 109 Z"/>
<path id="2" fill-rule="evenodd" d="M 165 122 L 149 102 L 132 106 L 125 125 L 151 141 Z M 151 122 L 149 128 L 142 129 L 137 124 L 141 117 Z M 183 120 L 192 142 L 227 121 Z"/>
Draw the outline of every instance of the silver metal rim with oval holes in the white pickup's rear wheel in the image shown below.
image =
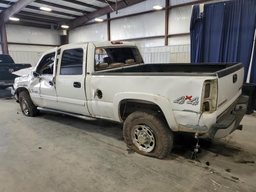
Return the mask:
<path id="1" fill-rule="evenodd" d="M 150 152 L 154 149 L 155 138 L 153 131 L 146 125 L 137 125 L 132 128 L 132 142 L 143 152 Z"/>

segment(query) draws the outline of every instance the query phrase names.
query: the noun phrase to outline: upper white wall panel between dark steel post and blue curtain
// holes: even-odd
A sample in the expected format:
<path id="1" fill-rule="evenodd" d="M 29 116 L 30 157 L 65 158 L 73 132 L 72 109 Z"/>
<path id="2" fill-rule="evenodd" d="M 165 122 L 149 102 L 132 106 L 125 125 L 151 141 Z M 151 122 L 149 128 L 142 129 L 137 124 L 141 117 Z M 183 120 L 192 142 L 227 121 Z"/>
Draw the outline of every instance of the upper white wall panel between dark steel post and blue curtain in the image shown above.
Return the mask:
<path id="1" fill-rule="evenodd" d="M 168 34 L 188 33 L 191 14 L 191 5 L 170 9 L 168 20 Z"/>

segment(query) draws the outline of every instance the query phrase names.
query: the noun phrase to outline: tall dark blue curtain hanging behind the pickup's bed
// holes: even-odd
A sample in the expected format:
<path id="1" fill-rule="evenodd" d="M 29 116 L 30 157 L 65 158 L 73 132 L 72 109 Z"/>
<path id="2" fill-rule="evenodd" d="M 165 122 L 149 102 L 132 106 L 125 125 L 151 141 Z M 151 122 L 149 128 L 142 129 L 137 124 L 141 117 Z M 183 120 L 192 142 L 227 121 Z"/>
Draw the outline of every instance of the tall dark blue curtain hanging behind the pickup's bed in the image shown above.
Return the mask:
<path id="1" fill-rule="evenodd" d="M 192 22 L 198 16 L 197 9 L 199 6 L 193 7 L 190 22 L 191 62 L 242 62 L 246 80 L 256 25 L 256 0 L 204 4 L 200 26 Z M 200 27 L 201 33 L 197 30 Z M 196 42 L 202 42 L 201 49 L 192 42 L 194 36 L 198 38 Z"/>

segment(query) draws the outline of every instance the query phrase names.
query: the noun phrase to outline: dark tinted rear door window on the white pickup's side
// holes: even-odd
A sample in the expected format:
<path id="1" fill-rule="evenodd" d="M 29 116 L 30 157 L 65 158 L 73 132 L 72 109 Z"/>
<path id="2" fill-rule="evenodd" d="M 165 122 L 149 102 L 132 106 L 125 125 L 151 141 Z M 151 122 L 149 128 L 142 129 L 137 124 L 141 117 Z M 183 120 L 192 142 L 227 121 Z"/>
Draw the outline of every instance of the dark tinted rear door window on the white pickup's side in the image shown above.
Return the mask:
<path id="1" fill-rule="evenodd" d="M 61 75 L 82 75 L 83 74 L 83 57 L 82 48 L 64 50 L 60 63 Z"/>

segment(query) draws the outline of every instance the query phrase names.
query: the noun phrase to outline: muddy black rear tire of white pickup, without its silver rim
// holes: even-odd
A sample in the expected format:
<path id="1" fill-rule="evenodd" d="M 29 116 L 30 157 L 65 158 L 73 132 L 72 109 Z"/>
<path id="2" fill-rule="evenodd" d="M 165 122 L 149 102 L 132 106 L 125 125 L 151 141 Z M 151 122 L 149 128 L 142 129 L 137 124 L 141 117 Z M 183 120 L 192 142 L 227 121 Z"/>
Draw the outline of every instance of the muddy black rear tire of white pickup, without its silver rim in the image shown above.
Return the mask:
<path id="1" fill-rule="evenodd" d="M 132 138 L 132 130 L 138 125 L 146 125 L 153 132 L 155 144 L 150 152 L 144 152 L 143 149 L 139 149 L 134 144 L 135 140 Z M 172 150 L 172 131 L 169 126 L 166 126 L 166 122 L 162 116 L 152 110 L 138 110 L 131 113 L 124 122 L 123 134 L 127 147 L 142 155 L 163 159 Z"/>

